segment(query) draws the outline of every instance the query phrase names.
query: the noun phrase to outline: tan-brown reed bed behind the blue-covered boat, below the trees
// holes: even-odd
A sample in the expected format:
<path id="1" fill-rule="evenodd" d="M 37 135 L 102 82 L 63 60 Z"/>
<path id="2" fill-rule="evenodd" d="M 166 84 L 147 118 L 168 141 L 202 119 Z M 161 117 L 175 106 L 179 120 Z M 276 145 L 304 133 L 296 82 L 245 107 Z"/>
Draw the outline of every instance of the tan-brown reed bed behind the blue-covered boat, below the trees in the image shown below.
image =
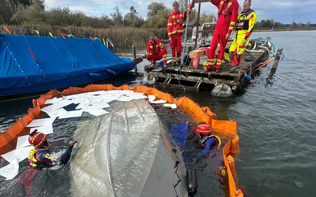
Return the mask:
<path id="1" fill-rule="evenodd" d="M 7 28 L 14 35 L 21 35 L 19 26 L 8 25 Z M 49 36 L 49 32 L 54 37 L 61 37 L 61 33 L 66 35 L 73 35 L 76 38 L 82 38 L 85 36 L 89 38 L 99 38 L 102 41 L 110 39 L 117 47 L 130 47 L 131 45 L 146 46 L 149 40 L 149 35 L 155 33 L 155 35 L 162 39 L 168 39 L 167 27 L 160 29 L 143 29 L 136 27 L 113 27 L 113 28 L 93 28 L 93 27 L 78 27 L 78 26 L 52 26 L 47 24 L 23 24 L 21 29 L 25 35 L 37 36 L 37 33 L 33 30 L 40 32 L 40 36 Z M 9 34 L 3 26 L 0 27 L 2 33 Z"/>

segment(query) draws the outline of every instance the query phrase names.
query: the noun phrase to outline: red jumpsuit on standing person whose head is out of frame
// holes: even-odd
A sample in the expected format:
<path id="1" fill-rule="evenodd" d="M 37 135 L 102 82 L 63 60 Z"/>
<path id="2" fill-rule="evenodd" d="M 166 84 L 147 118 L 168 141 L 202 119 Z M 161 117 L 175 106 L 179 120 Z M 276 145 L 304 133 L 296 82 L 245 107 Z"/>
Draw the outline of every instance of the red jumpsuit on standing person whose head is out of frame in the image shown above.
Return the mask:
<path id="1" fill-rule="evenodd" d="M 224 0 L 210 0 L 210 2 L 218 8 L 218 19 L 210 46 L 207 65 L 208 68 L 213 68 L 216 61 L 214 59 L 215 50 L 219 42 L 220 52 L 216 62 L 216 69 L 219 69 L 224 62 L 224 50 L 227 44 L 226 34 L 233 31 L 238 16 L 239 5 L 237 0 L 228 0 L 227 2 Z"/>

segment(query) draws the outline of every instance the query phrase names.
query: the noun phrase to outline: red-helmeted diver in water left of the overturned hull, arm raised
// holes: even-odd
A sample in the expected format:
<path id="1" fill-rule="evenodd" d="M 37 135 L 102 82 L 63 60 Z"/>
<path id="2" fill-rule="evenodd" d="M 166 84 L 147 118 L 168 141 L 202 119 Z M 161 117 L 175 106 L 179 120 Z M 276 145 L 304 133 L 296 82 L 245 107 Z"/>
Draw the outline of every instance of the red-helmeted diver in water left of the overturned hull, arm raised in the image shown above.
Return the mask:
<path id="1" fill-rule="evenodd" d="M 28 142 L 34 147 L 27 157 L 28 163 L 33 168 L 47 167 L 52 164 L 65 164 L 69 161 L 72 148 L 74 147 L 76 140 L 69 142 L 69 146 L 66 151 L 58 158 L 51 158 L 51 152 L 48 150 L 47 135 L 41 132 L 37 132 L 35 129 L 29 134 Z"/>

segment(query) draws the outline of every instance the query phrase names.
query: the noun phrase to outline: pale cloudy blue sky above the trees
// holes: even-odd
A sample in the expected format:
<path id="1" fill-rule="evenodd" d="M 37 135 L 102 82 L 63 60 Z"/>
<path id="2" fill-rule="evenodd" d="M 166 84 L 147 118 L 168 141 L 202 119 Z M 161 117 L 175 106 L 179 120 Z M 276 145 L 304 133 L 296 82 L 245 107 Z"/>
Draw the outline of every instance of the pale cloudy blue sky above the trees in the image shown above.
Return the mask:
<path id="1" fill-rule="evenodd" d="M 91 1 L 91 3 L 90 3 Z M 167 8 L 172 8 L 174 0 L 46 0 L 46 9 L 53 7 L 69 7 L 71 11 L 80 10 L 87 15 L 110 15 L 114 12 L 113 8 L 118 5 L 119 10 L 124 16 L 130 12 L 130 7 L 134 6 L 137 12 L 146 19 L 148 5 L 152 2 L 162 2 Z M 244 0 L 238 0 L 242 7 Z M 92 6 L 93 5 L 93 6 Z M 216 7 L 209 3 L 202 3 L 201 11 L 208 14 L 216 14 Z M 96 12 L 94 11 L 94 9 Z M 198 8 L 198 4 L 196 4 Z M 274 19 L 283 24 L 290 24 L 292 21 L 296 23 L 302 22 L 316 23 L 316 4 L 315 0 L 252 0 L 251 8 L 257 14 L 257 20 Z M 96 14 L 97 13 L 97 14 Z"/>

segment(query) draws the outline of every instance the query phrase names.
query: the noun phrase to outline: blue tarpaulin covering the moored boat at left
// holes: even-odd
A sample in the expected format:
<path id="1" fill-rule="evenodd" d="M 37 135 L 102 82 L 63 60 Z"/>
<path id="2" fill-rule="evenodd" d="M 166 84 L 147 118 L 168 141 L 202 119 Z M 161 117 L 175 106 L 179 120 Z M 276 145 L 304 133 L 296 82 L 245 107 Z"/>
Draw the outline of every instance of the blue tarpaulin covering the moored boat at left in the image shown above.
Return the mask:
<path id="1" fill-rule="evenodd" d="M 134 66 L 134 61 L 116 56 L 98 39 L 0 34 L 0 89 L 44 84 L 105 69 L 132 70 Z"/>

